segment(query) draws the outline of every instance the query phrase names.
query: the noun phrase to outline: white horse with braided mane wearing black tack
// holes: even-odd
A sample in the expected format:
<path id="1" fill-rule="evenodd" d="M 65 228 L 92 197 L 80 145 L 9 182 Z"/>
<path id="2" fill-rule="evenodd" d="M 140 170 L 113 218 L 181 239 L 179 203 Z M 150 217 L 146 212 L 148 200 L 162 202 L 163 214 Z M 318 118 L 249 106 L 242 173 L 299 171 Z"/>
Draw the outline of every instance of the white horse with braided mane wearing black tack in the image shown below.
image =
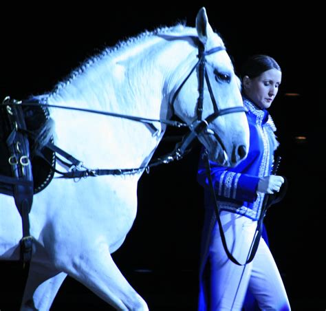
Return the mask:
<path id="1" fill-rule="evenodd" d="M 232 62 L 204 8 L 197 14 L 195 28 L 160 28 L 119 43 L 91 58 L 39 99 L 48 105 L 154 120 L 171 120 L 175 114 L 194 130 L 212 160 L 232 166 L 246 157 L 248 122 L 244 111 L 235 109 L 202 122 L 195 131 L 200 74 L 194 66 L 199 46 L 204 47 L 211 86 L 210 96 L 204 83 L 202 118 L 214 114 L 214 98 L 220 110 L 243 107 Z M 56 146 L 89 168 L 146 167 L 166 129 L 161 122 L 149 125 L 56 107 L 50 108 L 50 115 Z M 56 169 L 65 167 L 57 161 Z M 29 215 L 33 253 L 21 310 L 49 310 L 67 275 L 117 310 L 148 310 L 111 258 L 133 225 L 143 171 L 78 182 L 54 178 L 34 195 Z M 21 237 L 22 219 L 14 198 L 0 194 L 1 259 L 19 259 Z"/>

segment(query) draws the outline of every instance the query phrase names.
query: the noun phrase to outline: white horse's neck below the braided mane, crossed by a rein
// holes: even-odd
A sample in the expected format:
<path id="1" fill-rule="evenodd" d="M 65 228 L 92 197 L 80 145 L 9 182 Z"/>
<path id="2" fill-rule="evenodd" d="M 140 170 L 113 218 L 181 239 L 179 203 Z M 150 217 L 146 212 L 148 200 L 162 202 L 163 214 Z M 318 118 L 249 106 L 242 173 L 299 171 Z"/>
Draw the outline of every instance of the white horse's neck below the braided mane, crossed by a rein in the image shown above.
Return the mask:
<path id="1" fill-rule="evenodd" d="M 157 39 L 130 57 L 107 56 L 52 94 L 48 103 L 167 119 L 169 96 L 178 80 L 175 72 L 185 58 L 175 52 L 175 45 Z M 52 118 L 58 147 L 89 165 L 114 169 L 146 165 L 166 129 L 159 122 L 154 129 L 124 118 L 62 109 L 52 109 Z"/>

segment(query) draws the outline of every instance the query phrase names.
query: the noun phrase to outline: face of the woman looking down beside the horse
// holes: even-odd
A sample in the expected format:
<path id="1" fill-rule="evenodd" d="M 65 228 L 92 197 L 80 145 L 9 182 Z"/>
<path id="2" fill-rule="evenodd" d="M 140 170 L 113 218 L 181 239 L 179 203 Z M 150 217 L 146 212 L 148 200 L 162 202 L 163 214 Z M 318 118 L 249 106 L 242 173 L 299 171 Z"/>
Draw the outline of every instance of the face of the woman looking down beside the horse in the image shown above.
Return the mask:
<path id="1" fill-rule="evenodd" d="M 256 78 L 243 77 L 243 87 L 246 96 L 261 109 L 268 109 L 272 105 L 279 85 L 282 73 L 277 69 L 269 69 Z"/>

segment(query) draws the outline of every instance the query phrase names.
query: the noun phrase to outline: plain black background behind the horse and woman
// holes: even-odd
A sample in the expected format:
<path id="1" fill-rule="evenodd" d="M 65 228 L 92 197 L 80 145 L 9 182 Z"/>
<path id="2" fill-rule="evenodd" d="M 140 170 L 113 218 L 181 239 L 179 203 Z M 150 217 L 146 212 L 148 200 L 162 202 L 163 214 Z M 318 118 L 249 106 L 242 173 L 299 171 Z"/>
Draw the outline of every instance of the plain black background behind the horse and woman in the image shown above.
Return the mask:
<path id="1" fill-rule="evenodd" d="M 235 67 L 251 54 L 269 54 L 282 67 L 283 83 L 270 109 L 281 142 L 279 173 L 289 182 L 283 202 L 265 218 L 270 248 L 281 270 L 293 310 L 325 310 L 322 219 L 325 203 L 325 75 L 321 9 L 176 3 L 114 5 L 59 3 L 1 10 L 0 96 L 23 99 L 50 91 L 69 72 L 104 47 L 143 30 L 184 21 L 206 7 Z M 286 93 L 300 96 L 288 97 Z M 182 132 L 169 129 L 157 154 L 171 151 Z M 305 142 L 296 136 L 306 136 Z M 127 280 L 150 310 L 196 310 L 202 189 L 196 182 L 199 143 L 179 162 L 144 174 L 138 187 L 138 215 L 126 241 L 113 254 Z M 87 230 L 87 228 L 85 228 Z M 0 264 L 0 310 L 17 310 L 23 271 L 17 263 Z M 69 277 L 52 310 L 109 310 L 103 301 Z"/>

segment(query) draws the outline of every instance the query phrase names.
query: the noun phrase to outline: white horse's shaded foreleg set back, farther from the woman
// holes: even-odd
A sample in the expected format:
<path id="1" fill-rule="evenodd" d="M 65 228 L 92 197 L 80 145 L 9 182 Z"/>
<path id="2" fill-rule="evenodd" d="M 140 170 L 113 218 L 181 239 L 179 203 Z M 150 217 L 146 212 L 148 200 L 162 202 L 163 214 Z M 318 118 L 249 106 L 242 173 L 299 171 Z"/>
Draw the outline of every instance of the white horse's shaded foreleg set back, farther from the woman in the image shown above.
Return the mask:
<path id="1" fill-rule="evenodd" d="M 21 311 L 50 310 L 65 277 L 64 272 L 31 261 Z"/>

